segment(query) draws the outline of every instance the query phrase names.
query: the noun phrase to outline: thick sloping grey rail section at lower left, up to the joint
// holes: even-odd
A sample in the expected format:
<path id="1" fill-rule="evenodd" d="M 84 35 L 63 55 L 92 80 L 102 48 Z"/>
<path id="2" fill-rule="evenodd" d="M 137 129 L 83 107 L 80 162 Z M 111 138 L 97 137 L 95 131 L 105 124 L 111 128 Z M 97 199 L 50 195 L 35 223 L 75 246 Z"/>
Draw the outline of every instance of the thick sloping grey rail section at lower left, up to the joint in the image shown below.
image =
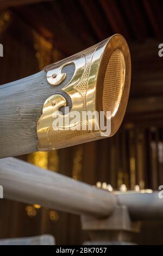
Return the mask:
<path id="1" fill-rule="evenodd" d="M 116 198 L 107 191 L 12 157 L 0 160 L 4 198 L 79 215 L 109 216 Z"/>

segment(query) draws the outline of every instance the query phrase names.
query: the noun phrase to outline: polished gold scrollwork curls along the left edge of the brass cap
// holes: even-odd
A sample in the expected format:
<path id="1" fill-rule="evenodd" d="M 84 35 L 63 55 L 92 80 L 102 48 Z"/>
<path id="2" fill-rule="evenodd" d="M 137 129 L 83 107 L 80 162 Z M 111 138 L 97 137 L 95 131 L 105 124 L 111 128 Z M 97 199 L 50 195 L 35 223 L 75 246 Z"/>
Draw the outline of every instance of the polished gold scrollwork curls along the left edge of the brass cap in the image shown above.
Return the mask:
<path id="1" fill-rule="evenodd" d="M 63 124 L 65 124 L 65 119 L 67 115 L 70 115 L 71 111 L 78 111 L 82 113 L 84 111 L 84 100 L 83 96 L 77 88 L 77 84 L 80 81 L 80 78 L 83 75 L 85 68 L 85 57 L 81 54 L 68 58 L 68 62 L 62 64 L 59 67 L 47 70 L 47 81 L 52 86 L 57 86 L 62 81 L 65 80 L 66 74 L 62 73 L 62 69 L 64 66 L 74 63 L 75 71 L 71 81 L 66 84 L 63 90 L 71 97 L 72 108 L 69 113 L 62 115 L 59 113 L 59 108 L 62 106 L 66 106 L 66 99 L 59 95 L 55 94 L 45 101 L 42 109 L 42 115 L 37 123 L 37 136 L 39 138 L 39 150 L 52 150 L 54 149 L 53 143 L 51 143 L 51 138 L 49 138 L 49 131 L 52 129 L 52 124 L 54 121 L 54 117 L 60 117 L 62 115 Z M 77 123 L 68 124 L 67 126 L 62 126 L 60 128 L 68 128 L 72 126 L 76 126 Z M 55 130 L 55 127 L 53 127 Z M 56 127 L 58 129 L 58 127 Z"/>

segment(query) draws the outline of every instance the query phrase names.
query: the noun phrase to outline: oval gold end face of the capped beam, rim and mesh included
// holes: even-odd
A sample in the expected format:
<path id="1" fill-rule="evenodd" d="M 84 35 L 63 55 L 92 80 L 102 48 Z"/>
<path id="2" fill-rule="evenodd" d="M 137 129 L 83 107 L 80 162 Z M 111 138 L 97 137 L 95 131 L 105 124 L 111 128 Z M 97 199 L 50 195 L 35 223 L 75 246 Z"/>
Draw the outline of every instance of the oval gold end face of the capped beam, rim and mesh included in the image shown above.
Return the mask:
<path id="1" fill-rule="evenodd" d="M 120 127 L 126 112 L 131 80 L 130 52 L 122 35 L 111 36 L 99 63 L 96 83 L 96 109 L 111 112 L 111 133 Z M 105 120 L 106 123 L 106 120 Z"/>

